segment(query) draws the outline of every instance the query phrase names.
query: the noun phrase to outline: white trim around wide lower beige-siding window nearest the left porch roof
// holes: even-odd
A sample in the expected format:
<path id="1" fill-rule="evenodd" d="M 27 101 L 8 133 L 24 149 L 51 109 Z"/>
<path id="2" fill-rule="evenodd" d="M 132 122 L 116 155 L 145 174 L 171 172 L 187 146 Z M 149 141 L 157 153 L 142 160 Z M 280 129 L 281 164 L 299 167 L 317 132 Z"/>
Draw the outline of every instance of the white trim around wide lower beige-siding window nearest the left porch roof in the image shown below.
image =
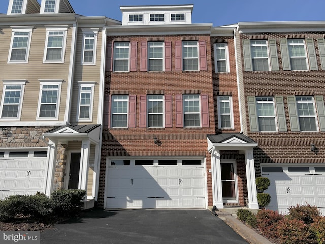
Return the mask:
<path id="1" fill-rule="evenodd" d="M 58 120 L 59 111 L 60 111 L 61 87 L 62 87 L 63 80 L 62 79 L 59 79 L 59 80 L 42 79 L 42 80 L 39 80 L 39 81 L 40 81 L 40 92 L 39 92 L 39 101 L 38 101 L 38 106 L 37 106 L 36 120 Z M 41 99 L 42 99 L 42 90 L 43 90 L 42 86 L 43 85 L 58 85 L 55 117 L 40 117 Z"/>

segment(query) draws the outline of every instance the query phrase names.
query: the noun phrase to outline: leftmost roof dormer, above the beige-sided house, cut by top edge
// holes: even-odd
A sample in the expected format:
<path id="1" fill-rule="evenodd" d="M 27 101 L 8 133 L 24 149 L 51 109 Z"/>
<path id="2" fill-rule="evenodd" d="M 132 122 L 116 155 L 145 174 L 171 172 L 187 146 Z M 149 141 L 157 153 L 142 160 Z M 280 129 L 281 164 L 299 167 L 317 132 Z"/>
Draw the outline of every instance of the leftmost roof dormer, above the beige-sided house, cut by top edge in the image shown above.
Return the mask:
<path id="1" fill-rule="evenodd" d="M 37 0 L 9 0 L 7 14 L 37 14 L 40 4 Z"/>

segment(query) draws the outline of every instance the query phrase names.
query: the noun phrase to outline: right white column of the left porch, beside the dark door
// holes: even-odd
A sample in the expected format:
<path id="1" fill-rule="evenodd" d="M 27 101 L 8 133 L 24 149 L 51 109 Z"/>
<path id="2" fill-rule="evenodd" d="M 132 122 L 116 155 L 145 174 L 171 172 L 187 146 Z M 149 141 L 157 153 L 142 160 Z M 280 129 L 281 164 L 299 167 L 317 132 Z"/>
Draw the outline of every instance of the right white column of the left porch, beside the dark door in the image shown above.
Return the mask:
<path id="1" fill-rule="evenodd" d="M 88 171 L 89 171 L 89 157 L 90 157 L 90 140 L 83 140 L 81 144 L 80 157 L 80 173 L 79 173 L 79 189 L 87 191 Z"/>

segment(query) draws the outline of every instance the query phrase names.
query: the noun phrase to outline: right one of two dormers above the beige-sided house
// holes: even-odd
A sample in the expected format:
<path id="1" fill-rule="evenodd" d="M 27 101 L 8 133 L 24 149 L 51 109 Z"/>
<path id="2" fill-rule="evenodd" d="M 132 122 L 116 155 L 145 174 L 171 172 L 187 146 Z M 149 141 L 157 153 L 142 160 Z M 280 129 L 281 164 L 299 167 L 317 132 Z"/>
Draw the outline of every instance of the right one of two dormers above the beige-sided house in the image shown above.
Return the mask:
<path id="1" fill-rule="evenodd" d="M 68 0 L 42 0 L 41 14 L 74 13 Z"/>

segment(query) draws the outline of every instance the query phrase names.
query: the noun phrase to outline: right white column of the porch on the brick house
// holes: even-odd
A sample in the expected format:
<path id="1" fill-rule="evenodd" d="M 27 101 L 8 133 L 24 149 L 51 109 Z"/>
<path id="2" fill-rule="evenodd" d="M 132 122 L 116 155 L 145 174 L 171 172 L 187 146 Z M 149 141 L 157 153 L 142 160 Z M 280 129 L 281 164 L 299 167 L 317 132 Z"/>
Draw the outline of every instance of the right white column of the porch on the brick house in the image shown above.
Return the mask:
<path id="1" fill-rule="evenodd" d="M 247 192 L 248 192 L 248 208 L 250 208 L 250 209 L 258 209 L 253 149 L 246 150 L 245 151 L 245 157 L 246 157 L 246 178 L 247 178 Z"/>

